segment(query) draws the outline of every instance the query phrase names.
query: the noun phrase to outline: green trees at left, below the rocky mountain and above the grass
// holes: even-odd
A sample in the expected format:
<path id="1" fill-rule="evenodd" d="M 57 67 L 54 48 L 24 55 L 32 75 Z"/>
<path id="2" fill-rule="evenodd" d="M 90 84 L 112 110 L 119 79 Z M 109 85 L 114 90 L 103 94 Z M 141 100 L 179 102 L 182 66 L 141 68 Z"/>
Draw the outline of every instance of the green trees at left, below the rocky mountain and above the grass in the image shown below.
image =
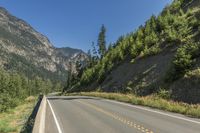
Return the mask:
<path id="1" fill-rule="evenodd" d="M 24 75 L 0 69 L 0 112 L 13 108 L 28 96 L 59 91 L 61 84 L 52 84 L 40 77 L 28 79 Z"/>

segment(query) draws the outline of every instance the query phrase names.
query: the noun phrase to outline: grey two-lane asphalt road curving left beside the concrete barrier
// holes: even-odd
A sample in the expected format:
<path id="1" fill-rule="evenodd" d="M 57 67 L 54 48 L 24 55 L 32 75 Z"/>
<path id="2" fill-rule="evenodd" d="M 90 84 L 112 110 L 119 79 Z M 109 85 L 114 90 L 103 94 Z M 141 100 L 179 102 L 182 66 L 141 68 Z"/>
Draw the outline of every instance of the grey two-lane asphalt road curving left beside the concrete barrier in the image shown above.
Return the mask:
<path id="1" fill-rule="evenodd" d="M 200 133 L 200 120 L 84 96 L 48 97 L 46 133 Z"/>

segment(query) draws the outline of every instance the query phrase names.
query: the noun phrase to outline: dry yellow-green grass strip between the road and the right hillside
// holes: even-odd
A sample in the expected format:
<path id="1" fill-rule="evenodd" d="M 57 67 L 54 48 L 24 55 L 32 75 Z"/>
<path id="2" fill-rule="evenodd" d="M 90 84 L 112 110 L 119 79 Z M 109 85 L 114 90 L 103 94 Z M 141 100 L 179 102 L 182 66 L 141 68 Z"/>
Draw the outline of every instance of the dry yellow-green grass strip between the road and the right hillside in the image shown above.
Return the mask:
<path id="1" fill-rule="evenodd" d="M 101 97 L 120 102 L 131 103 L 134 105 L 143 105 L 165 111 L 180 113 L 190 117 L 200 118 L 200 104 L 193 105 L 193 104 L 186 104 L 183 102 L 175 102 L 172 100 L 162 99 L 155 95 L 139 97 L 133 94 L 102 93 L 102 92 L 67 93 L 65 95 Z"/>

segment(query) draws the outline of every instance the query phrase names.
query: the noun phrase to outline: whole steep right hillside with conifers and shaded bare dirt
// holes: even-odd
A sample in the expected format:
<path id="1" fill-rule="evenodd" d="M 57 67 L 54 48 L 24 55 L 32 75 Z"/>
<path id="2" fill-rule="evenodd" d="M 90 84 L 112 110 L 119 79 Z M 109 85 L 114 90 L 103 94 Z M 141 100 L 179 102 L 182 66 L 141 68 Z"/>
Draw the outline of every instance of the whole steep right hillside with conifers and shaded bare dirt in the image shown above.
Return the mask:
<path id="1" fill-rule="evenodd" d="M 122 36 L 70 91 L 157 94 L 200 102 L 200 0 L 174 0 Z"/>

